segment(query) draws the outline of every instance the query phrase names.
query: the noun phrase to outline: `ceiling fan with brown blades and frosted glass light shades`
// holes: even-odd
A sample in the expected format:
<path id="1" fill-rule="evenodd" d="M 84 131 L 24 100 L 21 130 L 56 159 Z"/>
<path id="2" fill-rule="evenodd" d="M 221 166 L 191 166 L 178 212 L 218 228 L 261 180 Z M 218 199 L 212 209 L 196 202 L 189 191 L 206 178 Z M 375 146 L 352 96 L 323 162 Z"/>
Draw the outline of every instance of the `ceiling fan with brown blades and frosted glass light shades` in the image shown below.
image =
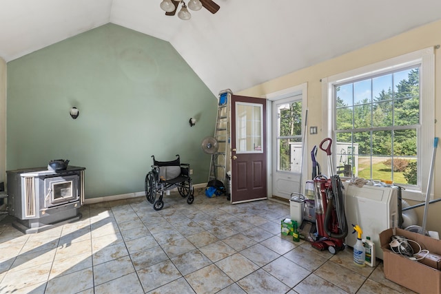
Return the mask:
<path id="1" fill-rule="evenodd" d="M 192 17 L 192 14 L 187 10 L 187 6 L 183 0 L 163 0 L 161 2 L 161 9 L 165 11 L 165 15 L 172 16 L 176 14 L 178 10 L 179 3 L 182 3 L 182 8 L 178 12 L 178 17 L 183 20 L 188 20 Z M 220 6 L 218 6 L 212 0 L 189 0 L 188 8 L 194 11 L 200 10 L 201 8 L 207 9 L 212 14 L 218 12 Z"/>

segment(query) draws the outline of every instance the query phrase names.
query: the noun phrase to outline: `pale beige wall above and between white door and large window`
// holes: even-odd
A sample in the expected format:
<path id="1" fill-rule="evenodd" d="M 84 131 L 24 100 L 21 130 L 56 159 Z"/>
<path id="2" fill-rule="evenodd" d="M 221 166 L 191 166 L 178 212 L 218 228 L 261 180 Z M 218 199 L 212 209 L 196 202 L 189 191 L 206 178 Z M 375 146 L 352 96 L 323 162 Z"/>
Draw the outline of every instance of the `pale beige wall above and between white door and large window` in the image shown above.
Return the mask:
<path id="1" fill-rule="evenodd" d="M 308 150 L 318 145 L 326 136 L 322 125 L 322 85 L 320 78 L 340 74 L 371 63 L 390 59 L 423 48 L 441 44 L 441 21 L 424 25 L 415 30 L 405 32 L 380 43 L 369 45 L 360 50 L 349 52 L 335 59 L 292 72 L 280 78 L 256 85 L 255 87 L 235 93 L 245 96 L 264 97 L 266 94 L 277 92 L 302 83 L 308 84 L 308 125 L 318 126 L 317 135 L 308 136 Z M 322 44 L 326 46 L 326 44 Z M 441 49 L 435 50 L 435 118 L 441 114 Z M 441 129 L 435 125 L 435 136 L 441 136 Z M 440 149 L 440 148 L 438 148 Z M 440 152 L 440 150 L 438 150 Z M 308 171 L 309 174 L 309 171 Z M 441 175 L 441 154 L 435 162 L 434 178 Z M 434 180 L 435 198 L 441 198 L 441 181 Z M 416 209 L 420 222 L 424 207 Z M 427 229 L 441 232 L 441 202 L 429 207 Z"/>

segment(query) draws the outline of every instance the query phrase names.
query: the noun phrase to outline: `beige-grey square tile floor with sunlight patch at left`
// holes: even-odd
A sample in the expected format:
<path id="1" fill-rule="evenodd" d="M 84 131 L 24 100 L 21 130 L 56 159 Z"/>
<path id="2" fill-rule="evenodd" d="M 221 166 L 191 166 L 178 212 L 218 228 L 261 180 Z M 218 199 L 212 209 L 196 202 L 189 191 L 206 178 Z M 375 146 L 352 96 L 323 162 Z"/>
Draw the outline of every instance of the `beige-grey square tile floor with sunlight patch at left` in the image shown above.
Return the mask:
<path id="1" fill-rule="evenodd" d="M 280 234 L 289 206 L 229 204 L 196 191 L 154 211 L 145 198 L 81 207 L 83 218 L 23 235 L 0 221 L 0 293 L 413 293 L 376 268 Z"/>

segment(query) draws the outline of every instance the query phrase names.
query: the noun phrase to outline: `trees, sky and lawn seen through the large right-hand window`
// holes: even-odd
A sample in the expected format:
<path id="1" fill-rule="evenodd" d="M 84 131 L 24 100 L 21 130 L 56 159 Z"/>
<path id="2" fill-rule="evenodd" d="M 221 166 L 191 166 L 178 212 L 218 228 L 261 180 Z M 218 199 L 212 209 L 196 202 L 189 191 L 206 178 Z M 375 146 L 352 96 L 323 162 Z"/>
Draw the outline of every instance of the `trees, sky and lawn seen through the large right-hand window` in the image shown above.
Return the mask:
<path id="1" fill-rule="evenodd" d="M 351 162 L 358 160 L 353 174 L 416 185 L 419 66 L 336 85 L 334 90 L 336 141 L 358 145 L 358 154 L 349 154 Z"/>

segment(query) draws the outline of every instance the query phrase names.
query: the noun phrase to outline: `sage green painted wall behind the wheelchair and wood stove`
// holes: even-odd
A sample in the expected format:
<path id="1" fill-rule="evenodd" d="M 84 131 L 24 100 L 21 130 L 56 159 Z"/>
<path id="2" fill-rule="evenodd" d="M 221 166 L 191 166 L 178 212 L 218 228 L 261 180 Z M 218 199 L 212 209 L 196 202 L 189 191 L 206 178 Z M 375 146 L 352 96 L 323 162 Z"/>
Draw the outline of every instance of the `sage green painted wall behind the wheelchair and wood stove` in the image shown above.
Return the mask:
<path id="1" fill-rule="evenodd" d="M 207 182 L 210 156 L 200 146 L 213 134 L 217 99 L 170 43 L 107 24 L 7 71 L 8 170 L 69 159 L 86 167 L 85 196 L 96 198 L 143 191 L 150 156 L 180 154 L 193 182 Z"/>

